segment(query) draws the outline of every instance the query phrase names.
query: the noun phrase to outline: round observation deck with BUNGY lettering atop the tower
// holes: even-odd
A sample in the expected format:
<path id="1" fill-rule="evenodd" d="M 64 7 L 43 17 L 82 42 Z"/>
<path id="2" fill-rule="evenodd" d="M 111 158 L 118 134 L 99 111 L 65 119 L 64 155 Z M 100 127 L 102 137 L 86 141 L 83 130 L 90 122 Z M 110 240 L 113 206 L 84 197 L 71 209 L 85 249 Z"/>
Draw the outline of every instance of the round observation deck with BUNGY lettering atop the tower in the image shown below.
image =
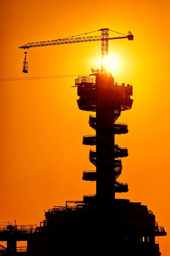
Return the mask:
<path id="1" fill-rule="evenodd" d="M 132 86 L 114 83 L 112 76 L 99 73 L 93 77 L 78 76 L 75 85 L 79 96 L 78 108 L 81 110 L 96 111 L 98 105 L 113 106 L 115 110 L 121 111 L 132 107 Z"/>

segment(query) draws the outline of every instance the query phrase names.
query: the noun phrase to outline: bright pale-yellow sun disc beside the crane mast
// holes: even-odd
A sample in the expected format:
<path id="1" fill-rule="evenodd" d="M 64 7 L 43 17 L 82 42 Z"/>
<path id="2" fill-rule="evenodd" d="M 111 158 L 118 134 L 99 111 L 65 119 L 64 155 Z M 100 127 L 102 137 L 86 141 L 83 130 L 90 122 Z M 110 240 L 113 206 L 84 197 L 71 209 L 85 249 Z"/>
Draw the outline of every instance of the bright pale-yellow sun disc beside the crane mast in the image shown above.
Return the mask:
<path id="1" fill-rule="evenodd" d="M 111 73 L 119 73 L 121 70 L 121 59 L 118 55 L 110 53 L 102 59 L 102 66 Z"/>

